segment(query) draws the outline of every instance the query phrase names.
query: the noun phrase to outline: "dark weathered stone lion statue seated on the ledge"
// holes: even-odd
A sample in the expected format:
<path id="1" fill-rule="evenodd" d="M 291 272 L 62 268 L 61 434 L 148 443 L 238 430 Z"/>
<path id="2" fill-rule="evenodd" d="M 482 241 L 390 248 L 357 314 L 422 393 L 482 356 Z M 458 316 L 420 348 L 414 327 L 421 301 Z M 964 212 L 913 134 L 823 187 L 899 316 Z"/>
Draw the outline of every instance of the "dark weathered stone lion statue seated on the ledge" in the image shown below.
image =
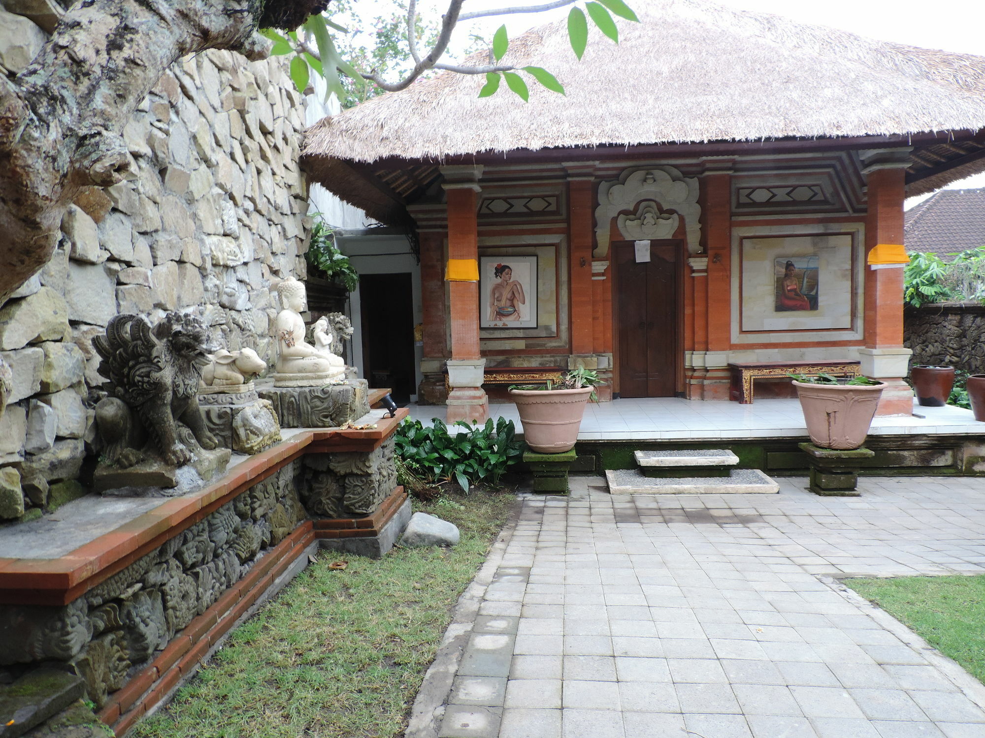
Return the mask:
<path id="1" fill-rule="evenodd" d="M 104 446 L 98 487 L 174 487 L 174 469 L 188 463 L 203 480 L 225 469 L 229 452 L 213 451 L 218 442 L 197 399 L 212 348 L 199 319 L 170 312 L 152 328 L 143 316 L 117 315 L 93 347 L 108 380 L 108 397 L 96 405 Z M 116 479 L 119 469 L 137 465 L 126 484 Z M 142 481 L 142 474 L 153 481 Z"/>

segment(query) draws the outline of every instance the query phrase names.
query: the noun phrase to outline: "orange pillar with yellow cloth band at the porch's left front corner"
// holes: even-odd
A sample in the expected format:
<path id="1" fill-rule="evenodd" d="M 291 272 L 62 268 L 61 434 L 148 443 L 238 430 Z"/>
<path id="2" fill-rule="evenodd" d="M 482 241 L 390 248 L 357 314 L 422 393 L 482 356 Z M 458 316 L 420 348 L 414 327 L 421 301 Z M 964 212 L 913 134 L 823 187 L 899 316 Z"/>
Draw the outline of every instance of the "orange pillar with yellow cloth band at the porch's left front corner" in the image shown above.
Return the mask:
<path id="1" fill-rule="evenodd" d="M 451 320 L 451 358 L 447 362 L 451 390 L 446 417 L 449 423 L 485 422 L 489 399 L 482 389 L 486 360 L 479 353 L 479 185 L 473 179 L 448 182 L 444 188 L 448 199 L 448 262 L 444 278 L 448 282 Z"/>

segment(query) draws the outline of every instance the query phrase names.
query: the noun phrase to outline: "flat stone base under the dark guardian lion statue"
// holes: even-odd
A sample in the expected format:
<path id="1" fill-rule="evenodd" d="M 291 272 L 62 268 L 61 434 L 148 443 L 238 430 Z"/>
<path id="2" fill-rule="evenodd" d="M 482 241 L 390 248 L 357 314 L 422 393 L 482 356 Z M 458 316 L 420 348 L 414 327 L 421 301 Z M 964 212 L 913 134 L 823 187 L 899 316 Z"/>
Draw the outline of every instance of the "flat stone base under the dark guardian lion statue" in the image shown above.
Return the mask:
<path id="1" fill-rule="evenodd" d="M 213 477 L 226 473 L 231 456 L 229 449 L 198 449 L 195 458 L 184 466 L 171 466 L 159 459 L 125 468 L 99 463 L 93 488 L 114 497 L 175 497 L 200 489 Z"/>

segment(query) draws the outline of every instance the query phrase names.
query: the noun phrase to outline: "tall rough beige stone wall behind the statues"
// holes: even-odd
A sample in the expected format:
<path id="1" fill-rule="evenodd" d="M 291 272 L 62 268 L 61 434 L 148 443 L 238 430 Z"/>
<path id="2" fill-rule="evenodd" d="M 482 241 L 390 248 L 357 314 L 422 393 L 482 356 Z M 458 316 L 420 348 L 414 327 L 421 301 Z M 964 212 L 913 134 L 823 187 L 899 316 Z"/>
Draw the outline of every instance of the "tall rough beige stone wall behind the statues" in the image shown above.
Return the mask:
<path id="1" fill-rule="evenodd" d="M 0 10 L 0 73 L 23 69 L 45 34 Z M 14 392 L 0 418 L 0 522 L 85 492 L 92 348 L 117 313 L 203 318 L 215 342 L 265 359 L 272 286 L 303 278 L 307 192 L 297 166 L 301 97 L 283 57 L 210 51 L 176 63 L 124 138 L 133 178 L 84 191 L 44 270 L 0 307 Z M 32 512 L 33 511 L 33 512 Z"/>

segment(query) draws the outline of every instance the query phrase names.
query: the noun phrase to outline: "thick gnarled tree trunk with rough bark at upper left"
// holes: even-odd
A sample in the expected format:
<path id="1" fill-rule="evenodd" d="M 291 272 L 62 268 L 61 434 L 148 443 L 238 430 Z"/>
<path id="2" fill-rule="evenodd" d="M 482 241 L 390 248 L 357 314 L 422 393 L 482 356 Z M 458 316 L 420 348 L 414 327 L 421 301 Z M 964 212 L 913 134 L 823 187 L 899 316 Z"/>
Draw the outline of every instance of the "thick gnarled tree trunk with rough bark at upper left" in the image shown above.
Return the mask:
<path id="1" fill-rule="evenodd" d="M 173 62 L 209 48 L 265 58 L 258 26 L 296 26 L 327 3 L 264 4 L 81 0 L 31 66 L 0 75 L 0 305 L 51 257 L 79 190 L 127 178 L 123 128 Z"/>

